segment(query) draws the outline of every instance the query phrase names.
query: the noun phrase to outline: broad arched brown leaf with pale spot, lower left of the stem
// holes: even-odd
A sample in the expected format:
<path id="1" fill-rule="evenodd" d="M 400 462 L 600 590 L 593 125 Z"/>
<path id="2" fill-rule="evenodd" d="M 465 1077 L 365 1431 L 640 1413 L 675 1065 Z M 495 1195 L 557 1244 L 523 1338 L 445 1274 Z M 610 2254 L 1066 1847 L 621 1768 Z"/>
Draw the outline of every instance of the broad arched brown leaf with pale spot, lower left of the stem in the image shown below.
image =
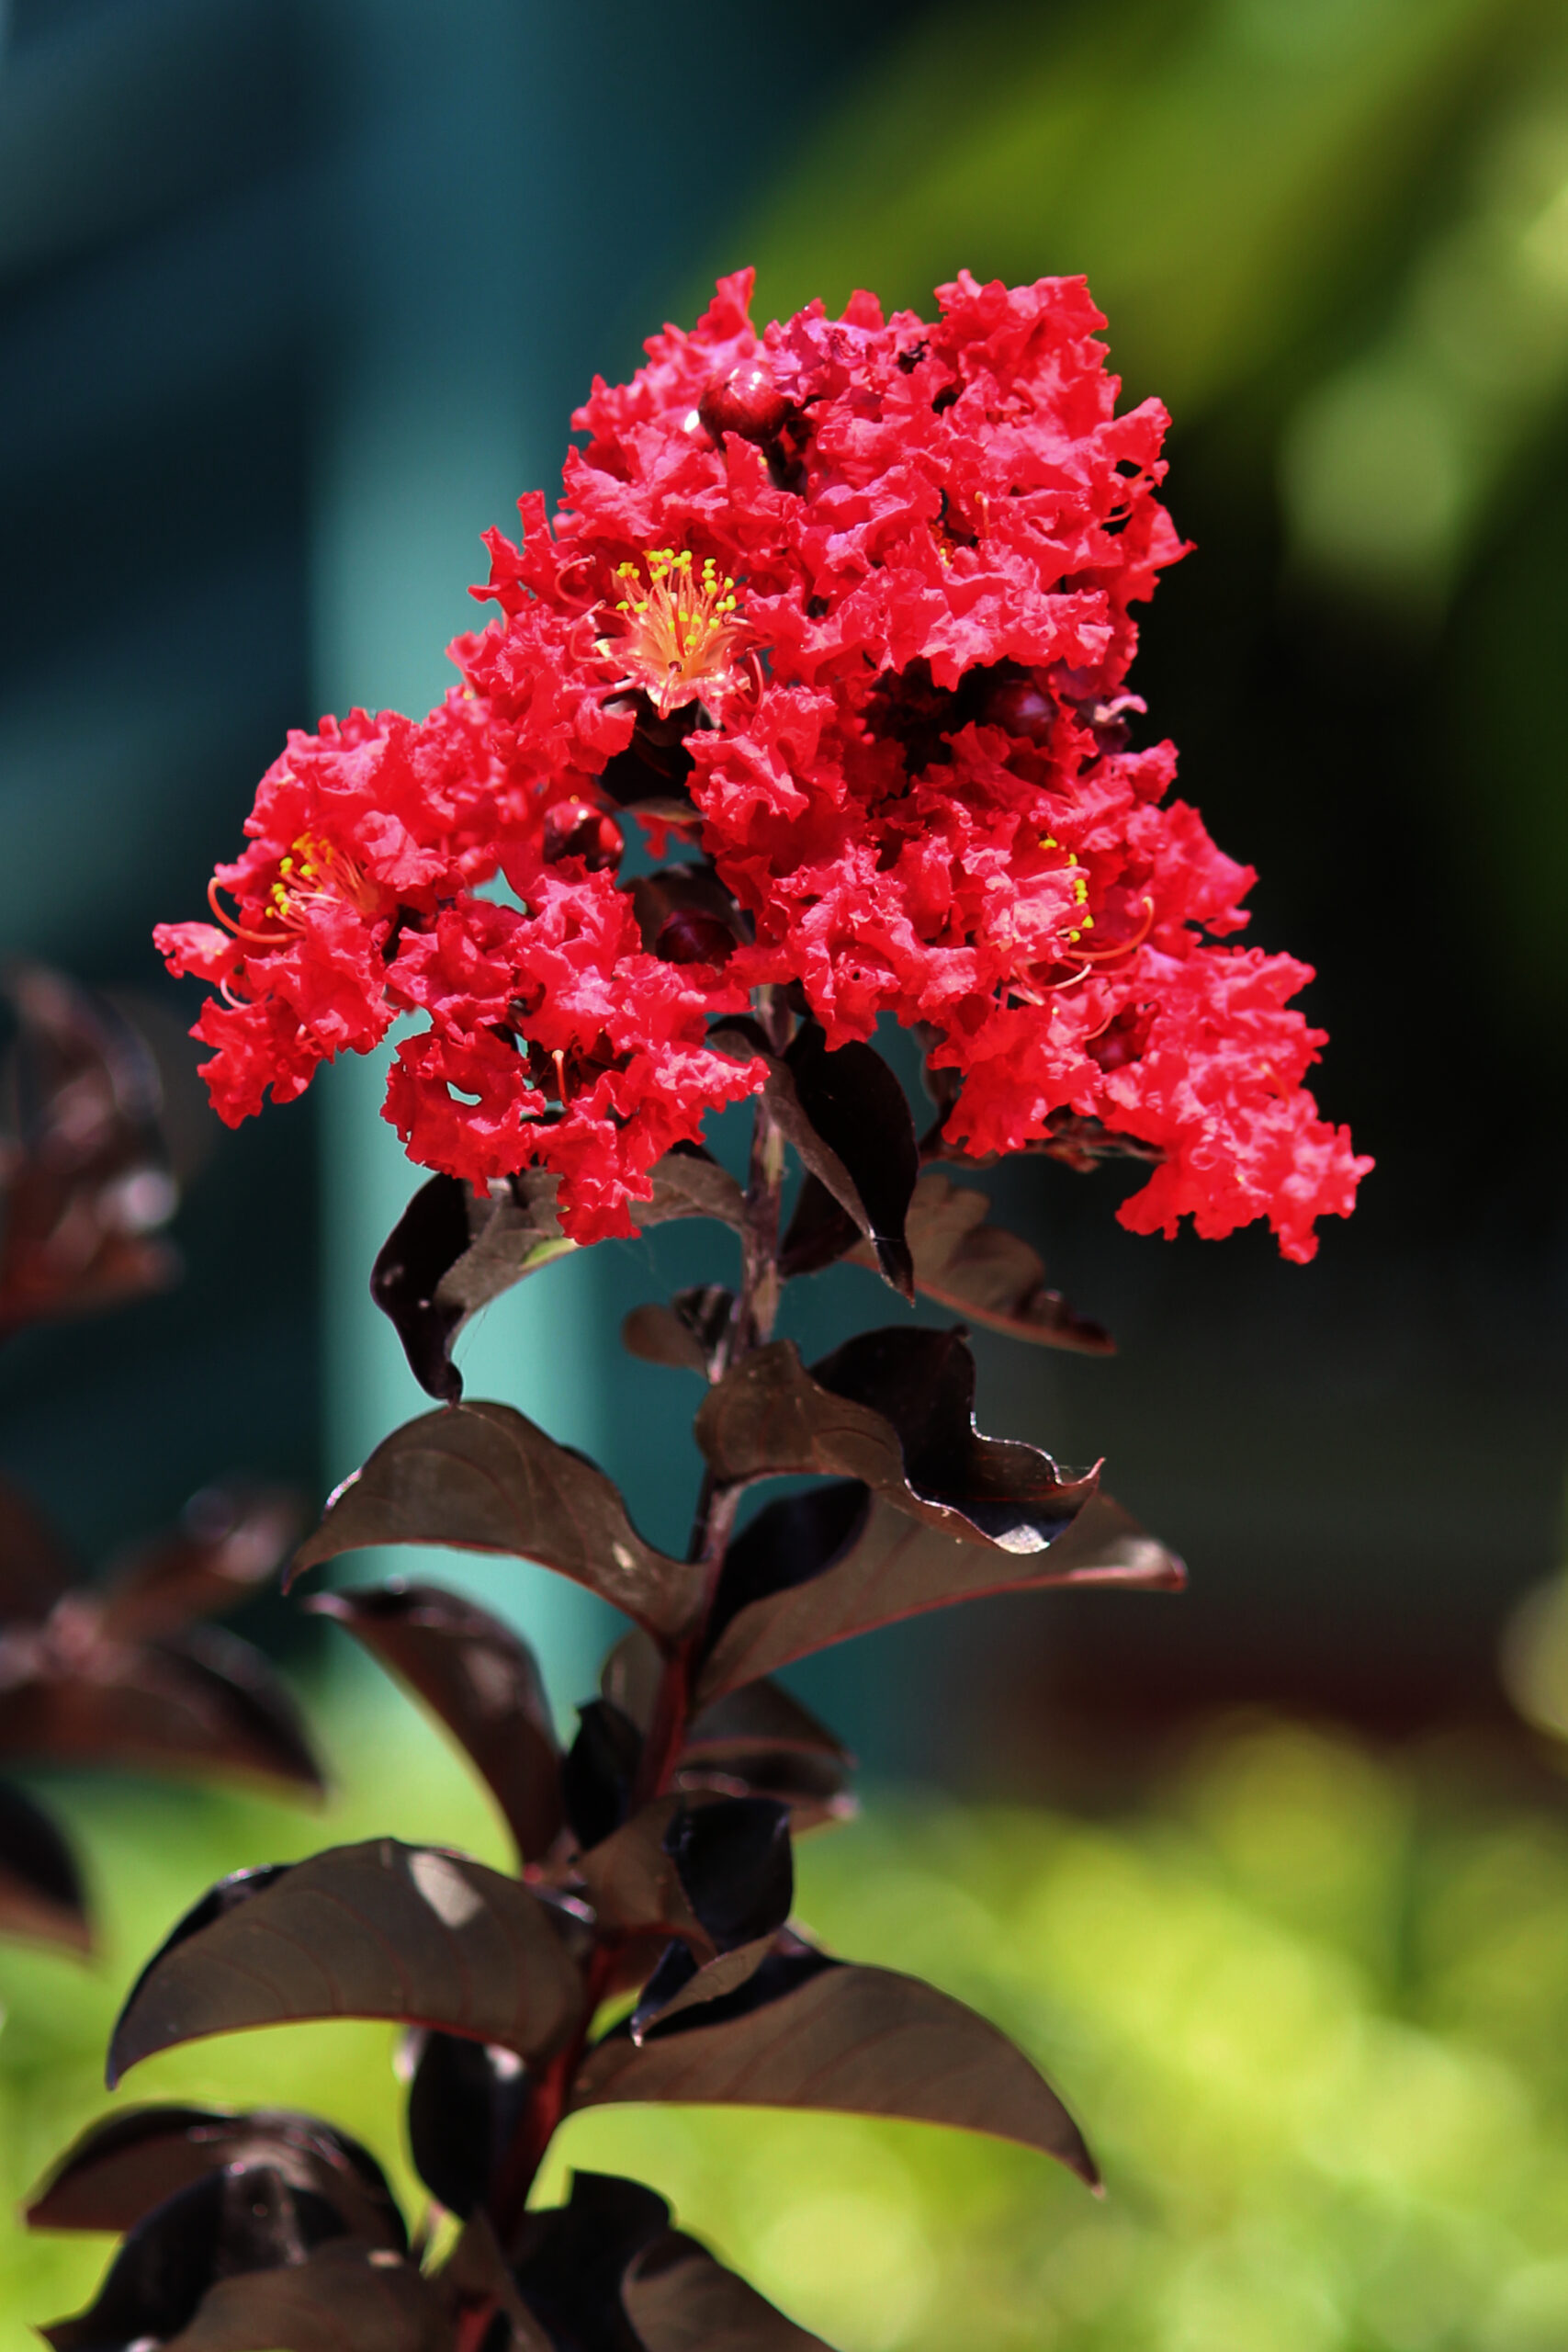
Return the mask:
<path id="1" fill-rule="evenodd" d="M 221 1879 L 141 1971 L 108 2082 L 179 2042 L 299 2018 L 397 2018 L 538 2058 L 581 2002 L 538 1896 L 463 1856 L 378 1837 Z"/>

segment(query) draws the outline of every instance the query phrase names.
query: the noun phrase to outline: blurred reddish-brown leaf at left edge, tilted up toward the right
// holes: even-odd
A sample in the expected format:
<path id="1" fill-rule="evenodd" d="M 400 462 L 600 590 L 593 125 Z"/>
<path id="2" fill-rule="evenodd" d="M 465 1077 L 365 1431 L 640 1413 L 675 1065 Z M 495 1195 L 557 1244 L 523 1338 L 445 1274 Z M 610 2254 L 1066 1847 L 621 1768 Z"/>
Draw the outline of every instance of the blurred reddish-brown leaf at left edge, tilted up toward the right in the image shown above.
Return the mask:
<path id="1" fill-rule="evenodd" d="M 148 1642 L 237 1609 L 273 1581 L 301 1519 L 299 1496 L 280 1486 L 205 1486 L 176 1529 L 110 1571 L 94 1595 L 101 1632 Z"/>

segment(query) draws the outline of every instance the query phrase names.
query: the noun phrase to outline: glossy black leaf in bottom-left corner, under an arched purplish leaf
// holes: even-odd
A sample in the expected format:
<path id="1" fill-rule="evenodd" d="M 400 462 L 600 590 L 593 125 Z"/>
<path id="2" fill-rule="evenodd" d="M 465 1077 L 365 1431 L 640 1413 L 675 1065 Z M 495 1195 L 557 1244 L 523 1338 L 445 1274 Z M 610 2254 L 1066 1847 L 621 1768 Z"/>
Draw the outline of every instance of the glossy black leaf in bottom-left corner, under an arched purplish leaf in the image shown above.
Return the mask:
<path id="1" fill-rule="evenodd" d="M 343 2234 L 343 2223 L 324 2197 L 294 2190 L 266 2164 L 207 2171 L 132 2230 L 92 2310 L 42 2333 L 54 2352 L 129 2352 L 143 2343 L 183 2343 L 181 2331 L 212 2286 L 301 2263 Z M 256 2352 L 266 2352 L 277 2338 L 252 2343 Z"/>

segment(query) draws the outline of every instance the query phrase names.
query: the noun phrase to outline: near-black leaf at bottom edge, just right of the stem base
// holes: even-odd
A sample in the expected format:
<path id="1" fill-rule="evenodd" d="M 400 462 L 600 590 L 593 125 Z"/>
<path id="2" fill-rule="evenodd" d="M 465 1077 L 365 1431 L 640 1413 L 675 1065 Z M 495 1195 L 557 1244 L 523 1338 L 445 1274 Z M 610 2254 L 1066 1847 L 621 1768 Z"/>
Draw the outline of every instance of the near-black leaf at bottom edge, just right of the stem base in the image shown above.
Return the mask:
<path id="1" fill-rule="evenodd" d="M 611 2173 L 574 2173 L 569 2204 L 524 2218 L 512 2274 L 555 2345 L 644 2352 L 621 2305 L 621 2281 L 668 2225 L 663 2197 Z"/>

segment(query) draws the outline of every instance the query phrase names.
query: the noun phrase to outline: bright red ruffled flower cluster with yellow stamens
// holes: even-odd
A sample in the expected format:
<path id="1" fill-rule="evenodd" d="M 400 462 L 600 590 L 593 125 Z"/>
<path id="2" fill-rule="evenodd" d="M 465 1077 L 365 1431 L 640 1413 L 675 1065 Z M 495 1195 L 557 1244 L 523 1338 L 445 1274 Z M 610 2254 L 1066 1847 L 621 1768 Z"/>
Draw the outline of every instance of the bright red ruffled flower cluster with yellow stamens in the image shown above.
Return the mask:
<path id="1" fill-rule="evenodd" d="M 221 929 L 160 931 L 219 983 L 219 1110 L 421 1014 L 388 1089 L 411 1157 L 557 1169 L 597 1240 L 762 1082 L 710 1021 L 792 985 L 830 1044 L 919 1025 L 952 1150 L 1095 1120 L 1159 1152 L 1124 1223 L 1267 1216 L 1312 1256 L 1371 1162 L 1300 1084 L 1309 971 L 1218 943 L 1253 877 L 1164 800 L 1171 746 L 1126 748 L 1128 607 L 1180 555 L 1164 409 L 1114 414 L 1081 280 L 762 336 L 748 296 L 595 383 L 559 513 L 491 534 L 465 684 L 294 736 Z M 635 826 L 682 863 L 621 880 Z"/>

